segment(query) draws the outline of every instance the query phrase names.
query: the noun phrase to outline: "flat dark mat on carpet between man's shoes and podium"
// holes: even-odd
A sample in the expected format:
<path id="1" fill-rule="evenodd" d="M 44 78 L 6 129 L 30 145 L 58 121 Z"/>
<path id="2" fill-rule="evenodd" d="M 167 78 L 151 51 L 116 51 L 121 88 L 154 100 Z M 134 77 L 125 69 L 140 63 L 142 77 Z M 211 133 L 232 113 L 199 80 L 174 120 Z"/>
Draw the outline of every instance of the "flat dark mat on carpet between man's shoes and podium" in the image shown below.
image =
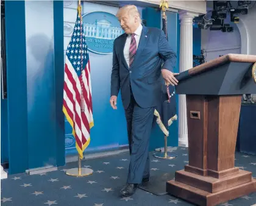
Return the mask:
<path id="1" fill-rule="evenodd" d="M 149 193 L 155 194 L 157 196 L 165 195 L 166 193 L 166 182 L 169 179 L 173 179 L 174 174 L 165 173 L 158 176 L 150 177 L 149 182 L 144 182 L 139 186 L 141 190 L 147 191 Z"/>

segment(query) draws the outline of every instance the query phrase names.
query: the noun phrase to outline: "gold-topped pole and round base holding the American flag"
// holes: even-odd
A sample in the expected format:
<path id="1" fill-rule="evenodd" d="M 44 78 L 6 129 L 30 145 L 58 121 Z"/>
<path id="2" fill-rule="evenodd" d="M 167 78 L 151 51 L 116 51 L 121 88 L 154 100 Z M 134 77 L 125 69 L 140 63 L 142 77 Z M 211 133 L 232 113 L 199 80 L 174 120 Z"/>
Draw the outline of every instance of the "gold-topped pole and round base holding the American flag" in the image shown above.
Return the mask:
<path id="1" fill-rule="evenodd" d="M 78 6 L 77 6 L 77 10 L 79 12 L 79 16 L 81 16 L 81 1 L 78 1 Z M 82 16 L 81 16 L 82 18 Z M 82 111 L 81 111 L 82 112 Z M 76 176 L 76 177 L 85 177 L 85 176 L 90 176 L 91 174 L 93 174 L 93 169 L 90 168 L 82 168 L 81 166 L 81 157 L 78 154 L 78 167 L 77 168 L 72 168 L 72 169 L 68 169 L 66 171 L 66 174 L 68 176 Z"/>

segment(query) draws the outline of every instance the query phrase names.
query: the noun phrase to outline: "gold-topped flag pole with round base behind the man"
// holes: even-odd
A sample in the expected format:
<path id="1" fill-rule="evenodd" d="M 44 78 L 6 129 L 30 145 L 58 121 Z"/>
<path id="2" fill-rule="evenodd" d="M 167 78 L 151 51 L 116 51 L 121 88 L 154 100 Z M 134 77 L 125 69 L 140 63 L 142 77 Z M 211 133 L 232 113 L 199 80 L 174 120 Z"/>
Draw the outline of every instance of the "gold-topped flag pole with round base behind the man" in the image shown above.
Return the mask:
<path id="1" fill-rule="evenodd" d="M 167 19 L 166 15 L 165 15 L 165 12 L 166 12 L 166 9 L 168 9 L 168 8 L 169 8 L 169 5 L 168 5 L 168 2 L 166 0 L 160 1 L 160 9 L 163 12 L 163 18 L 165 20 Z M 171 118 L 171 121 L 173 121 L 173 120 L 177 120 L 177 116 L 176 115 Z M 154 157 L 162 158 L 162 159 L 173 159 L 173 158 L 177 157 L 176 154 L 170 154 L 170 152 L 167 151 L 167 138 L 168 138 L 168 136 L 165 135 L 164 152 L 161 152 L 160 154 L 155 154 Z"/>

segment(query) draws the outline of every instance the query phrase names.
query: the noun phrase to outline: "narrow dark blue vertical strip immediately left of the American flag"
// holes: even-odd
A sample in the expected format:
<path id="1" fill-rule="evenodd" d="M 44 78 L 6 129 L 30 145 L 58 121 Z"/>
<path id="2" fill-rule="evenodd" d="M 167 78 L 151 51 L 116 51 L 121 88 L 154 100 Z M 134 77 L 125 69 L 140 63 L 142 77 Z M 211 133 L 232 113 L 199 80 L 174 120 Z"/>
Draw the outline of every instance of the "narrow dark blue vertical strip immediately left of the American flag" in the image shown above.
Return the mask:
<path id="1" fill-rule="evenodd" d="M 55 130 L 56 130 L 56 163 L 65 165 L 65 124 L 63 105 L 63 1 L 54 1 L 54 74 L 55 74 Z"/>

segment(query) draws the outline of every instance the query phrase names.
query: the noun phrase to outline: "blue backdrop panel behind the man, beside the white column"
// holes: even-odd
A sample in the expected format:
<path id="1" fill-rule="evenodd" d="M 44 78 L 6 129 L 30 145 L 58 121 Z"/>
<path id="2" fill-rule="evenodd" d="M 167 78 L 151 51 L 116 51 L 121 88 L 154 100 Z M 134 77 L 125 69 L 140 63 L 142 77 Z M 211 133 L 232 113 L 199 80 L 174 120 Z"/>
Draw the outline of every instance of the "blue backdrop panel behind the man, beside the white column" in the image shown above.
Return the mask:
<path id="1" fill-rule="evenodd" d="M 168 41 L 171 45 L 171 48 L 177 52 L 179 48 L 179 36 L 177 35 L 177 28 L 179 24 L 177 24 L 177 13 L 175 12 L 166 12 L 167 16 L 167 32 L 168 32 Z M 146 20 L 146 26 L 148 27 L 157 27 L 158 29 L 162 29 L 162 13 L 159 9 L 153 8 L 145 8 L 142 12 L 143 20 Z M 177 61 L 178 62 L 178 61 Z M 177 70 L 178 70 L 177 66 Z M 177 72 L 177 71 L 174 71 Z M 178 104 L 178 102 L 177 102 Z M 178 110 L 177 110 L 178 111 Z M 169 127 L 169 137 L 168 137 L 168 146 L 177 146 L 178 145 L 178 130 L 177 130 L 177 121 L 174 121 L 172 125 Z M 164 146 L 164 134 L 162 130 L 160 130 L 157 123 L 154 123 L 151 139 L 149 144 L 149 150 L 152 151 L 158 147 Z"/>

